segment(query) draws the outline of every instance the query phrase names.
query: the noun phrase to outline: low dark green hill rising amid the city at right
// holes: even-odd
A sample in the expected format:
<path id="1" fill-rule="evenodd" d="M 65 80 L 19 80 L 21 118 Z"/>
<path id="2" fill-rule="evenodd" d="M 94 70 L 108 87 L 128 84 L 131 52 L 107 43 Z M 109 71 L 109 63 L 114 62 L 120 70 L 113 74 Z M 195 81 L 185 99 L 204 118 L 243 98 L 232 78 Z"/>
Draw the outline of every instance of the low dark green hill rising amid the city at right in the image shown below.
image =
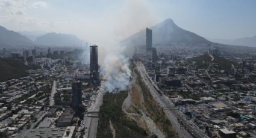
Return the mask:
<path id="1" fill-rule="evenodd" d="M 232 64 L 236 65 L 233 61 L 228 59 L 213 55 L 214 60 L 212 60 L 210 55 L 202 55 L 195 58 L 192 58 L 192 61 L 196 61 L 197 68 L 207 68 L 209 63 L 216 63 L 219 65 L 220 70 L 225 70 L 227 73 L 230 73 Z"/>

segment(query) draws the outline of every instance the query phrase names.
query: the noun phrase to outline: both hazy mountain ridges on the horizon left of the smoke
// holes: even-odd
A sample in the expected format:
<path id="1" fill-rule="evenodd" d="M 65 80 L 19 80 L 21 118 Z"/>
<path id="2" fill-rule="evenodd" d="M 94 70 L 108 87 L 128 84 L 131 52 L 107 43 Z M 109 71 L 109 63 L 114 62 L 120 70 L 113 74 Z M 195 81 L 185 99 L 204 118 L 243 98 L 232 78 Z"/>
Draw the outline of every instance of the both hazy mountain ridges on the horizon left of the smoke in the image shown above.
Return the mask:
<path id="1" fill-rule="evenodd" d="M 83 40 L 71 34 L 46 33 L 42 31 L 23 31 L 18 33 L 0 26 L 0 47 L 81 46 L 83 43 L 85 43 Z"/>

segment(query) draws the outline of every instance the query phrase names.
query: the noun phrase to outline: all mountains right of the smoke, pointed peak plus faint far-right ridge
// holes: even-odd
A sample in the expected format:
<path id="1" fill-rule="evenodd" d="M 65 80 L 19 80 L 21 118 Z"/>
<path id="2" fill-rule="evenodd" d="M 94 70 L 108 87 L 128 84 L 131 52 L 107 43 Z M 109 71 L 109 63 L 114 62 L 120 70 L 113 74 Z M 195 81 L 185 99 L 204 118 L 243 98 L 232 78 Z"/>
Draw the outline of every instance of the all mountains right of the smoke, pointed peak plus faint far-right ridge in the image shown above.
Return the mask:
<path id="1" fill-rule="evenodd" d="M 166 19 L 152 29 L 153 46 L 170 46 L 175 44 L 187 44 L 192 46 L 206 46 L 211 43 L 212 46 L 229 47 L 233 46 L 251 46 L 256 47 L 256 35 L 254 37 L 237 38 L 234 40 L 210 39 L 207 40 L 193 32 L 177 26 L 172 19 Z M 131 35 L 122 41 L 125 46 L 145 46 L 146 29 Z"/>

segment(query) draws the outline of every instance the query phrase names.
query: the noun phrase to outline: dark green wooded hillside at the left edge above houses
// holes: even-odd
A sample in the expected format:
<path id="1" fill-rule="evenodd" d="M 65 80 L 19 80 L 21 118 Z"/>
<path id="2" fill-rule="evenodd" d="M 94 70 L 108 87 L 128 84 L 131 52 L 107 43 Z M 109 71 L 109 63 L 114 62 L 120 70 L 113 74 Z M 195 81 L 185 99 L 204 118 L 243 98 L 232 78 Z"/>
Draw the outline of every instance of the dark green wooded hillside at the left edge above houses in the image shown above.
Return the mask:
<path id="1" fill-rule="evenodd" d="M 0 58 L 0 82 L 27 76 L 29 69 L 20 59 Z"/>

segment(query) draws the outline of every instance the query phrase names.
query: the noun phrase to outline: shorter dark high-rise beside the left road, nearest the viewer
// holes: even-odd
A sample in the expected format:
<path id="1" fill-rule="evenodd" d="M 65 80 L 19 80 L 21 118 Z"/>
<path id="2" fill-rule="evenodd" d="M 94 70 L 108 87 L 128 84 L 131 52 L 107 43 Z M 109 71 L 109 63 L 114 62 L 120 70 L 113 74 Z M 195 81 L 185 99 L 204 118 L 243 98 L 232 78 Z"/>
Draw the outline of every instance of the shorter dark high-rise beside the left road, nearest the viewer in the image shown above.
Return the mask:
<path id="1" fill-rule="evenodd" d="M 82 83 L 72 83 L 72 107 L 77 109 L 82 106 Z"/>

